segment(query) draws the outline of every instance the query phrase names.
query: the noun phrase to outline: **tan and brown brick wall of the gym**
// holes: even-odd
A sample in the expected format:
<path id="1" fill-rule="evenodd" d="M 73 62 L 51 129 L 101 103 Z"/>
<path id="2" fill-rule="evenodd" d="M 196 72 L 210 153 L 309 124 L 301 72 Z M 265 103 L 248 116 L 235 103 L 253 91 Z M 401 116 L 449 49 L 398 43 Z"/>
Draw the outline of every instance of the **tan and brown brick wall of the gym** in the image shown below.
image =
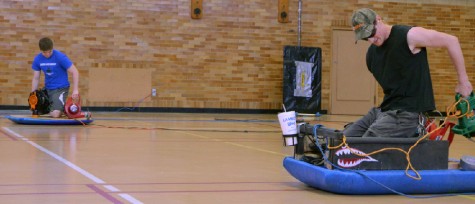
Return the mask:
<path id="1" fill-rule="evenodd" d="M 303 0 L 301 45 L 323 51 L 322 109 L 329 107 L 331 31 L 349 29 L 360 7 L 389 24 L 458 36 L 475 84 L 473 1 Z M 0 105 L 27 105 L 38 40 L 50 36 L 78 67 L 86 106 L 140 100 L 88 101 L 91 69 L 146 68 L 158 96 L 142 107 L 280 109 L 282 48 L 297 45 L 298 0 L 290 0 L 289 23 L 277 21 L 277 0 L 204 0 L 198 20 L 190 18 L 189 0 L 3 0 L 0 9 Z M 445 50 L 429 49 L 429 57 L 437 108 L 444 111 L 453 102 L 453 66 Z"/>

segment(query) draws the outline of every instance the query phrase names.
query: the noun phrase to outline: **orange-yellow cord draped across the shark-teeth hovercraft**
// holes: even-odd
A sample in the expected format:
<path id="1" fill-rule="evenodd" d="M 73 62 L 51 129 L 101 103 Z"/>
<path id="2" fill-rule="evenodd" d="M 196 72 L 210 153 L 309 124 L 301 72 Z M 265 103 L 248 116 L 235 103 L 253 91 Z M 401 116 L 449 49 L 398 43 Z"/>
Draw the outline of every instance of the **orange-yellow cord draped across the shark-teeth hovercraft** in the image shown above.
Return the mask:
<path id="1" fill-rule="evenodd" d="M 431 132 L 428 132 L 426 133 L 424 136 L 422 136 L 421 138 L 419 138 L 415 143 L 414 145 L 412 145 L 408 151 L 405 151 L 401 148 L 396 148 L 396 147 L 389 147 L 389 148 L 382 148 L 382 149 L 379 149 L 379 150 L 376 150 L 376 151 L 373 151 L 371 153 L 357 153 L 355 151 L 353 151 L 352 148 L 350 148 L 350 146 L 348 145 L 348 143 L 346 142 L 346 136 L 343 135 L 343 139 L 342 139 L 342 142 L 337 145 L 337 146 L 328 146 L 328 149 L 338 149 L 338 148 L 341 148 L 341 147 L 346 147 L 350 150 L 351 153 L 357 155 L 357 156 L 361 156 L 361 157 L 367 157 L 367 156 L 371 156 L 371 155 L 374 155 L 374 154 L 378 154 L 378 153 L 381 153 L 381 152 L 384 152 L 384 151 L 389 151 L 389 150 L 394 150 L 394 151 L 400 151 L 402 153 L 404 153 L 406 155 L 406 160 L 407 160 L 407 166 L 406 166 L 406 170 L 405 170 L 405 173 L 406 173 L 406 176 L 412 178 L 412 179 L 415 179 L 415 180 L 421 180 L 421 175 L 419 174 L 419 172 L 412 166 L 412 162 L 411 162 L 411 157 L 410 157 L 410 153 L 412 151 L 412 149 L 414 149 L 414 147 L 416 147 L 419 142 L 421 142 L 422 140 L 424 140 L 425 138 L 427 138 L 429 135 L 431 135 L 432 133 L 434 133 L 435 131 L 438 131 L 439 129 L 441 129 L 442 127 L 444 127 L 445 123 L 447 123 L 448 119 L 449 118 L 452 118 L 452 117 L 455 117 L 455 118 L 461 118 L 461 117 L 464 117 L 466 116 L 470 111 L 467 111 L 466 113 L 464 114 L 460 114 L 460 111 L 457 111 L 456 109 L 456 106 L 462 102 L 462 101 L 465 101 L 467 102 L 467 110 L 470 110 L 470 104 L 468 103 L 468 100 L 467 99 L 464 99 L 463 97 L 460 98 L 457 102 L 453 103 L 451 106 L 447 107 L 447 117 L 445 117 L 444 119 L 444 122 L 442 124 L 440 124 L 437 128 L 435 128 L 434 130 L 432 130 Z M 412 170 L 416 176 L 412 176 L 409 174 L 409 169 Z"/>

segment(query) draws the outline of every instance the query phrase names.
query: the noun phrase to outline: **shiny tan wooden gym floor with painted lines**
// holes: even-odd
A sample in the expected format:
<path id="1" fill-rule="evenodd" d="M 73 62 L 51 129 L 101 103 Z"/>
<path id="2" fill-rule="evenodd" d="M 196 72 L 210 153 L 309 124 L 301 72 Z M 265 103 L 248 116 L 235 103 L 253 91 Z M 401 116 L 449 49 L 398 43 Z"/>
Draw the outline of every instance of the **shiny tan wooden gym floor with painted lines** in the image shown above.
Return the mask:
<path id="1" fill-rule="evenodd" d="M 0 119 L 1 203 L 475 203 L 475 195 L 428 199 L 349 196 L 290 176 L 277 115 L 93 113 L 89 126 L 18 125 Z M 321 117 L 341 129 L 355 116 Z M 456 136 L 451 158 L 475 156 Z M 364 188 L 364 186 L 362 186 Z"/>

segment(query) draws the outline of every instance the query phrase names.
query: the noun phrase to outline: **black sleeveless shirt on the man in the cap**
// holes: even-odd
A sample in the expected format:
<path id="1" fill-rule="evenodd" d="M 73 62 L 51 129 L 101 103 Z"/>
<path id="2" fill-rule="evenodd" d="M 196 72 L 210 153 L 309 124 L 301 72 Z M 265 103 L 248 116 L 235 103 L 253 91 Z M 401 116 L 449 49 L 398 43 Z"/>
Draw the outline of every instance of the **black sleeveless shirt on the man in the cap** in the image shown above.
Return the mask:
<path id="1" fill-rule="evenodd" d="M 394 25 L 381 45 L 371 45 L 366 65 L 384 91 L 382 111 L 426 112 L 435 109 L 427 50 L 413 54 L 407 45 L 412 27 Z"/>

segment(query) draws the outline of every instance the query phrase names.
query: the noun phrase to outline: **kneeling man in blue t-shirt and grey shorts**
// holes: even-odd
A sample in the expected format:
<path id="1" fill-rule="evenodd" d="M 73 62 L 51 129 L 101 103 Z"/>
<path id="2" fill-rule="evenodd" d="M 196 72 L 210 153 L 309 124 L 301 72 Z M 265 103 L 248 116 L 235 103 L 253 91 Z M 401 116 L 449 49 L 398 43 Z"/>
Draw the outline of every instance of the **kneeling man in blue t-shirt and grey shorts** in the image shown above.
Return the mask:
<path id="1" fill-rule="evenodd" d="M 73 79 L 73 100 L 79 99 L 79 72 L 73 62 L 62 52 L 53 49 L 53 41 L 42 38 L 39 41 L 41 53 L 36 55 L 31 68 L 33 69 L 33 80 L 31 91 L 38 89 L 40 72 L 45 75 L 45 87 L 50 100 L 49 113 L 51 117 L 58 118 L 64 111 L 64 104 L 69 94 L 68 73 Z"/>

